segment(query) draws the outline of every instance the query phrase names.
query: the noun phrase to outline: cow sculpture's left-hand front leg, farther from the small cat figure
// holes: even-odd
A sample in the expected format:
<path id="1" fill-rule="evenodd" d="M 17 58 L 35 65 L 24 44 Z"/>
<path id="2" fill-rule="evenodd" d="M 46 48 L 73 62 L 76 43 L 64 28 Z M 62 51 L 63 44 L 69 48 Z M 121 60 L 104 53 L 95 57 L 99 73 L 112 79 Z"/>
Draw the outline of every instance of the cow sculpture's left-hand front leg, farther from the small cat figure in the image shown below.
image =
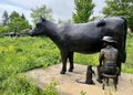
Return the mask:
<path id="1" fill-rule="evenodd" d="M 65 72 L 66 72 L 68 52 L 61 52 L 61 57 L 62 57 L 62 71 L 61 71 L 61 74 L 65 74 Z"/>

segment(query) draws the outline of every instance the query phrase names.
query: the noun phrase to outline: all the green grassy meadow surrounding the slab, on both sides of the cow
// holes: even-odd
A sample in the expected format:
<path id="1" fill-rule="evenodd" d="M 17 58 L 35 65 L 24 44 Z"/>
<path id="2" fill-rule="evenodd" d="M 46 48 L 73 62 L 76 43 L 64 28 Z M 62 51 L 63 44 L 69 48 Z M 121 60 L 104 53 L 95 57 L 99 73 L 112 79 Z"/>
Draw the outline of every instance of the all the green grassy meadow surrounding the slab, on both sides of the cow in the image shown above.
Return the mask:
<path id="1" fill-rule="evenodd" d="M 132 35 L 127 35 L 127 59 L 122 66 L 122 71 L 127 73 L 133 73 L 132 39 Z M 58 95 L 55 83 L 42 91 L 23 74 L 35 67 L 45 68 L 58 63 L 61 63 L 60 51 L 48 38 L 0 38 L 0 95 Z M 99 53 L 75 53 L 74 63 L 96 66 Z"/>

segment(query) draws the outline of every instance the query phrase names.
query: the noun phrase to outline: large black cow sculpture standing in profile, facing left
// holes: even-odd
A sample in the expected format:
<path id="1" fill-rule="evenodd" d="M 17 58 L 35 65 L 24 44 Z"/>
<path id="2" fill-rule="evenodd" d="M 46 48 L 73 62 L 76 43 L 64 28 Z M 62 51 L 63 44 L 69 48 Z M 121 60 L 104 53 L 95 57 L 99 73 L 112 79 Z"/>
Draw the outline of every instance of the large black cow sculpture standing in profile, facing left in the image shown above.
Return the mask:
<path id="1" fill-rule="evenodd" d="M 74 68 L 73 53 L 99 52 L 102 48 L 101 39 L 104 35 L 113 36 L 117 41 L 116 48 L 120 51 L 117 66 L 121 68 L 121 63 L 124 63 L 126 59 L 126 19 L 119 17 L 79 24 L 64 23 L 62 27 L 40 18 L 30 35 L 47 35 L 57 44 L 62 57 L 61 74 L 65 74 L 68 59 L 70 62 L 69 72 L 72 72 Z"/>

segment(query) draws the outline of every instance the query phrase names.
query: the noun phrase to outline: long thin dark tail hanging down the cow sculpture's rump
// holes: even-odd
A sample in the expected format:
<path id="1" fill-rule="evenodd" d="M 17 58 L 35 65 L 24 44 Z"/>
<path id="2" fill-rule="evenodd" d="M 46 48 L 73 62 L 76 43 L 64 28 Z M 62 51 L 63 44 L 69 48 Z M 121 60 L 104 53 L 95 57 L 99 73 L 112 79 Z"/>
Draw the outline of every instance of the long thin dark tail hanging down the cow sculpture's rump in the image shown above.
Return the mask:
<path id="1" fill-rule="evenodd" d="M 126 33 L 127 33 L 127 20 L 124 18 L 124 17 L 122 17 L 121 19 L 123 19 L 124 20 L 124 31 L 123 31 L 123 38 L 124 38 L 124 44 L 123 44 L 123 46 L 124 46 L 124 51 L 123 51 L 123 54 L 122 54 L 122 62 L 123 63 L 125 63 L 125 60 L 126 60 L 126 51 L 125 51 L 125 46 L 126 46 Z"/>

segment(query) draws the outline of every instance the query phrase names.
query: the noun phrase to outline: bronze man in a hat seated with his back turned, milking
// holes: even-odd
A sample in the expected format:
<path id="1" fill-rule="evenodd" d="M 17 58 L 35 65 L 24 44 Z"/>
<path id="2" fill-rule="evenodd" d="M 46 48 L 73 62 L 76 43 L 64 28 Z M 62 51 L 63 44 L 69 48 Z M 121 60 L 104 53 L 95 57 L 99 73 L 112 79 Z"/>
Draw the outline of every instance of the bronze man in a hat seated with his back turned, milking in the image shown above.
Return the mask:
<path id="1" fill-rule="evenodd" d="M 104 48 L 100 52 L 100 65 L 98 66 L 98 82 L 102 83 L 102 73 L 114 75 L 117 72 L 117 53 L 119 51 L 113 46 L 116 43 L 112 36 L 103 36 Z"/>

